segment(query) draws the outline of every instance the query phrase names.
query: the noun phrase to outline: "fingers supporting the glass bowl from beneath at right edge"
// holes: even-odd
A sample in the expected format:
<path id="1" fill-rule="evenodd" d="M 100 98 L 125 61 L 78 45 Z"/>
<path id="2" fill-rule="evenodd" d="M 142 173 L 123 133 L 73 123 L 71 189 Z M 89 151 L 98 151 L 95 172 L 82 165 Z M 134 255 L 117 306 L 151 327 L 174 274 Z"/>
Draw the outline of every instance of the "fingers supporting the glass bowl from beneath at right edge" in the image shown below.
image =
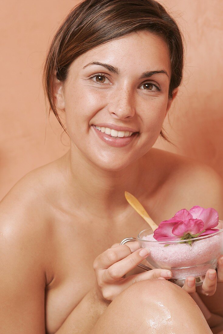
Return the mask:
<path id="1" fill-rule="evenodd" d="M 216 270 L 209 269 L 205 275 L 203 284 L 197 287 L 197 292 L 204 294 L 206 296 L 213 296 L 217 288 L 217 283 L 223 283 L 222 256 L 218 259 L 217 273 Z M 183 289 L 191 295 L 193 295 L 196 292 L 195 278 L 193 276 L 187 277 Z"/>

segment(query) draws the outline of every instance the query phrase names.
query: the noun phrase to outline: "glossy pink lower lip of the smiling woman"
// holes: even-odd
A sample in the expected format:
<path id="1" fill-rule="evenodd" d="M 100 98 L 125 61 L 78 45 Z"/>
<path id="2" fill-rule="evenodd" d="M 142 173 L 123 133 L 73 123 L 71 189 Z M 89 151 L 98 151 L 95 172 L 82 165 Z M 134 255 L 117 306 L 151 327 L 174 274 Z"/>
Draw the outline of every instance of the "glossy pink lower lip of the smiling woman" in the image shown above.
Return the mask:
<path id="1" fill-rule="evenodd" d="M 99 125 L 100 126 L 100 125 Z M 122 137 L 122 138 L 113 138 L 110 135 L 107 135 L 106 133 L 103 133 L 99 131 L 95 125 L 92 125 L 91 128 L 94 130 L 96 135 L 107 145 L 113 146 L 113 147 L 123 147 L 131 142 L 134 141 L 135 137 L 138 137 L 138 133 L 133 133 L 130 137 Z M 127 130 L 128 131 L 128 130 Z"/>

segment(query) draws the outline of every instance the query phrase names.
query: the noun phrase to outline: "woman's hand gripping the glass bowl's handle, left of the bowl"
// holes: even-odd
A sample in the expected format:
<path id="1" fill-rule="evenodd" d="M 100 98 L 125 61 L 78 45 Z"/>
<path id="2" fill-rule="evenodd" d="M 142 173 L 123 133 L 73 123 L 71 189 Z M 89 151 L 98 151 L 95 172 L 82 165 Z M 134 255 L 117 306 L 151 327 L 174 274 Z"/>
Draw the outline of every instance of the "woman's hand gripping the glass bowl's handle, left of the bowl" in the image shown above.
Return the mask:
<path id="1" fill-rule="evenodd" d="M 170 270 L 152 269 L 124 278 L 125 274 L 134 269 L 149 254 L 147 248 L 139 248 L 138 241 L 127 242 L 127 244 L 115 243 L 94 261 L 93 268 L 97 278 L 96 291 L 102 300 L 113 301 L 123 290 L 139 281 L 172 277 Z"/>

